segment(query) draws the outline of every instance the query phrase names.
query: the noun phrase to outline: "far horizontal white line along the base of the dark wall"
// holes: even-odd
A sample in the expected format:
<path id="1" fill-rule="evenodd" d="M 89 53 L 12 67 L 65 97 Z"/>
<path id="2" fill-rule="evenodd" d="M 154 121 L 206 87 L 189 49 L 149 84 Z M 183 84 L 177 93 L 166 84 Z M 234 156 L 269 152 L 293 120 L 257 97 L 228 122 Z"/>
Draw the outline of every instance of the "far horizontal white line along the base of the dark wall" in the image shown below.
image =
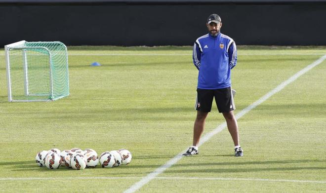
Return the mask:
<path id="1" fill-rule="evenodd" d="M 240 56 L 278 56 L 278 55 L 324 55 L 322 53 L 320 54 L 316 54 L 316 53 L 312 53 L 312 54 L 298 54 L 298 53 L 266 53 L 266 54 L 240 54 L 238 53 L 238 55 Z M 0 56 L 4 56 L 4 54 L 0 54 Z M 192 54 L 68 54 L 68 56 L 192 56 Z"/>

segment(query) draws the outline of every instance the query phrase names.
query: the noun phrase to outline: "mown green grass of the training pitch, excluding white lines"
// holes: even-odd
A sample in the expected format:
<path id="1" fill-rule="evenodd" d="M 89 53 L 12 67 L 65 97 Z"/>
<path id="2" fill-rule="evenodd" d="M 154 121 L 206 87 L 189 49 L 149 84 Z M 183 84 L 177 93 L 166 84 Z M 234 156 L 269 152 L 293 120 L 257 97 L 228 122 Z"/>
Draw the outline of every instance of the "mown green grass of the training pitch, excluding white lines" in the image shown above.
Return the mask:
<path id="1" fill-rule="evenodd" d="M 191 47 L 68 50 L 71 95 L 47 103 L 7 102 L 0 52 L 0 192 L 123 192 L 192 143 L 198 71 Z M 326 49 L 239 46 L 238 54 L 232 70 L 236 114 Z M 95 61 L 102 66 L 91 67 Z M 238 120 L 244 157 L 233 156 L 233 142 L 224 129 L 200 147 L 199 155 L 182 158 L 140 192 L 181 192 L 185 187 L 191 187 L 187 192 L 326 192 L 325 72 L 326 61 Z M 213 106 L 204 134 L 223 121 Z M 48 170 L 34 161 L 41 150 L 74 147 L 98 154 L 124 148 L 133 159 L 127 166 L 82 171 Z M 60 179 L 14 180 L 43 177 Z"/>

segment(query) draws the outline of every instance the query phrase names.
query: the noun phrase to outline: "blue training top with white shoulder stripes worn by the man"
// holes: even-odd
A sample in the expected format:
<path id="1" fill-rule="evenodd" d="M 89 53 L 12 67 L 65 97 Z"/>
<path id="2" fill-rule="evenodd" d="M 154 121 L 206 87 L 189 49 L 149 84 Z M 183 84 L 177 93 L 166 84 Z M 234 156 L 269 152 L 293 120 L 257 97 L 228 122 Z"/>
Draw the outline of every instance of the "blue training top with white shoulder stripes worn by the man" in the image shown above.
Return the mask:
<path id="1" fill-rule="evenodd" d="M 198 73 L 197 88 L 219 89 L 231 86 L 231 69 L 237 64 L 237 46 L 233 39 L 219 33 L 206 34 L 194 44 L 193 61 Z"/>

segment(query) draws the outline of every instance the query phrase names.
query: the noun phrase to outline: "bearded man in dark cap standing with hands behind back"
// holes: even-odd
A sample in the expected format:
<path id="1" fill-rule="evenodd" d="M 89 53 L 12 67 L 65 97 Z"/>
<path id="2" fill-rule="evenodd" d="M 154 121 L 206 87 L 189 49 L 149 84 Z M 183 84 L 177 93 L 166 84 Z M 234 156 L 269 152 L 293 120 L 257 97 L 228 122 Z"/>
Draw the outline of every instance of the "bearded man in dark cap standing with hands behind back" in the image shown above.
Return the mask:
<path id="1" fill-rule="evenodd" d="M 199 70 L 193 146 L 183 155 L 198 154 L 198 144 L 204 131 L 207 114 L 213 98 L 219 113 L 222 113 L 234 142 L 235 156 L 244 156 L 239 144 L 238 123 L 233 114 L 235 105 L 231 89 L 231 69 L 237 64 L 236 43 L 221 34 L 220 16 L 211 14 L 206 23 L 208 34 L 198 38 L 194 44 L 193 61 Z"/>

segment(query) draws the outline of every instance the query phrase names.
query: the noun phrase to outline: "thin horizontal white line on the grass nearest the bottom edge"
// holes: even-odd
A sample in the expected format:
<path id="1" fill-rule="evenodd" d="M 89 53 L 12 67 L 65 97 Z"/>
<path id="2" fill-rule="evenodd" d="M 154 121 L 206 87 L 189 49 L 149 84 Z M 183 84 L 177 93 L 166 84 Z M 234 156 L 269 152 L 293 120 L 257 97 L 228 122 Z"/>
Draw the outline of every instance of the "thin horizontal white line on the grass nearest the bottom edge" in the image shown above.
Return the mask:
<path id="1" fill-rule="evenodd" d="M 0 178 L 0 181 L 30 181 L 30 180 L 116 180 L 116 179 L 141 179 L 143 177 L 58 177 L 58 178 Z M 259 179 L 259 178 L 196 178 L 196 177 L 156 177 L 162 180 L 240 180 L 240 181 L 268 181 L 268 182 L 295 182 L 326 184 L 326 181 L 313 180 L 284 180 L 284 179 Z"/>

